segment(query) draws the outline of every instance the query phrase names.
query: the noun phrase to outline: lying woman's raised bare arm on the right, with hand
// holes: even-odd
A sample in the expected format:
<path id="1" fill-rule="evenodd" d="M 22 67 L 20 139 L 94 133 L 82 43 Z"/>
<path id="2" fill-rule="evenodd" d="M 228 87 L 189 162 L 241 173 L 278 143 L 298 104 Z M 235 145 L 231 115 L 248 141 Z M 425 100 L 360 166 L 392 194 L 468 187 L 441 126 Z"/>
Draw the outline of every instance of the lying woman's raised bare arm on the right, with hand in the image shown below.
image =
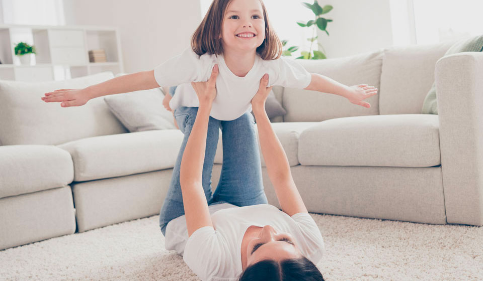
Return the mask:
<path id="1" fill-rule="evenodd" d="M 265 101 L 272 89 L 272 87 L 267 88 L 267 84 L 268 74 L 265 74 L 260 81 L 257 94 L 252 99 L 252 108 L 257 120 L 258 136 L 268 176 L 274 186 L 282 211 L 289 216 L 296 213 L 307 213 L 307 208 L 293 182 L 287 155 L 265 112 Z"/>

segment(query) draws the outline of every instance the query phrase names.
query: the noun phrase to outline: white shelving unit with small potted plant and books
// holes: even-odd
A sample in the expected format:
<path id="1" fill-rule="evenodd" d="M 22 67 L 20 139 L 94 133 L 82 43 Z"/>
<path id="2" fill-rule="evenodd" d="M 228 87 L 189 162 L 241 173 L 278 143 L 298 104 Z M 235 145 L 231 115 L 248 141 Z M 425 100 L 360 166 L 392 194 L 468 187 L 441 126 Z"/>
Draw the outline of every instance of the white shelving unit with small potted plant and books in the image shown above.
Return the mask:
<path id="1" fill-rule="evenodd" d="M 15 55 L 20 41 L 35 46 L 30 65 L 21 65 Z M 104 49 L 107 62 L 90 63 L 93 49 Z M 51 81 L 124 72 L 119 31 L 113 27 L 0 25 L 0 61 L 1 80 Z"/>

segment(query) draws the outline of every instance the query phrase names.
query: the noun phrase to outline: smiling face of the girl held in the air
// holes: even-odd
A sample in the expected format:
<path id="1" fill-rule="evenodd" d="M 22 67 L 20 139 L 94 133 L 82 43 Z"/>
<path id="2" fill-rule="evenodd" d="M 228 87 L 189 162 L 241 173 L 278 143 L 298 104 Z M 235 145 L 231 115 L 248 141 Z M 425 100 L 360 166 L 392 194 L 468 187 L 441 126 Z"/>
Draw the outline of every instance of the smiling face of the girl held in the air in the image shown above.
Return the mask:
<path id="1" fill-rule="evenodd" d="M 265 39 L 265 19 L 260 0 L 233 0 L 226 8 L 221 28 L 223 50 L 255 51 Z"/>

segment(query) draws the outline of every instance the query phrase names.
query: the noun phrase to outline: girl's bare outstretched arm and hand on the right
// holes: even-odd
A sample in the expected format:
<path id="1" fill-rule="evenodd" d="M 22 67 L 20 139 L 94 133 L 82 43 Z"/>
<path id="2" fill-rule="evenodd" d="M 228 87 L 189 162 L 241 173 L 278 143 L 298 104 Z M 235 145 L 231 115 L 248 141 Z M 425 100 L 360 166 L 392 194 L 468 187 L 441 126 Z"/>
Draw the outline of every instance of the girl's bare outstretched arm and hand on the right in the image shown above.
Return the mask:
<path id="1" fill-rule="evenodd" d="M 340 95 L 354 104 L 362 105 L 367 108 L 371 107 L 371 105 L 362 100 L 377 94 L 377 88 L 374 88 L 374 86 L 359 84 L 349 87 L 324 75 L 317 73 L 310 74 L 312 80 L 304 90 Z"/>

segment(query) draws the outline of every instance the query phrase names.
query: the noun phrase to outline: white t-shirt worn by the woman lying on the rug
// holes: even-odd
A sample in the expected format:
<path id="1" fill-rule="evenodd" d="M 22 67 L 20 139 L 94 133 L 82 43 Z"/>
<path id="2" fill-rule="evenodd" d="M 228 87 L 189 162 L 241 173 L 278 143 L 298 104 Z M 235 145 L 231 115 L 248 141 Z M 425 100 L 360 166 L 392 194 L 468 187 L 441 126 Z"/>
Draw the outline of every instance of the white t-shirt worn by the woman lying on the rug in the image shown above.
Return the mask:
<path id="1" fill-rule="evenodd" d="M 251 225 L 271 225 L 277 232 L 288 232 L 302 255 L 314 264 L 322 258 L 324 240 L 308 213 L 290 217 L 269 204 L 238 207 L 222 203 L 209 210 L 214 228 L 201 227 L 189 238 L 184 215 L 166 227 L 166 249 L 183 254 L 183 260 L 203 281 L 237 280 L 243 271 L 241 240 Z"/>

